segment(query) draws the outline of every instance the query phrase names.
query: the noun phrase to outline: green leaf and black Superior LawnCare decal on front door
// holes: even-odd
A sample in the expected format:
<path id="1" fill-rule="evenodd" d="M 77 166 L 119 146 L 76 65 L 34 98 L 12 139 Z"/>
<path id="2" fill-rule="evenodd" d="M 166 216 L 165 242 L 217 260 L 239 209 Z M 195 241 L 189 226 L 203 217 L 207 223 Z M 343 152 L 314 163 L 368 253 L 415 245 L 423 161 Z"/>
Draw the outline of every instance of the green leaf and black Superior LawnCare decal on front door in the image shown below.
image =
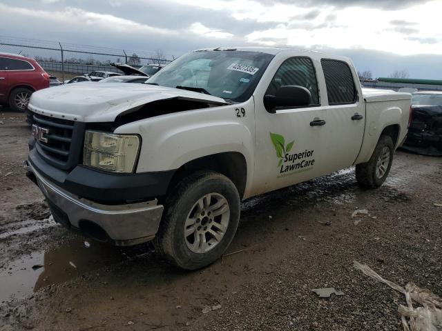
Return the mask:
<path id="1" fill-rule="evenodd" d="M 290 153 L 295 141 L 287 143 L 286 146 L 284 137 L 282 137 L 280 134 L 271 132 L 270 139 L 273 146 L 275 146 L 276 156 L 279 159 L 278 178 L 307 171 L 313 168 L 315 164 L 314 150 L 304 150 L 303 152 Z"/>

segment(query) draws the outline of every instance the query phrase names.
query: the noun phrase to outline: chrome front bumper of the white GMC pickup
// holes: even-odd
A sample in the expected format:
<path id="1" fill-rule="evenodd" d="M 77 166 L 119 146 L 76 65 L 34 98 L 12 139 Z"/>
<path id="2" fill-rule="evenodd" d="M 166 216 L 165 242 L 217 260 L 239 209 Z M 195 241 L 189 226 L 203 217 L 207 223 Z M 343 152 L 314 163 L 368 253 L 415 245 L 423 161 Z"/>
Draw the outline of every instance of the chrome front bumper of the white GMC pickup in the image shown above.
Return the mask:
<path id="1" fill-rule="evenodd" d="M 155 237 L 164 207 L 157 200 L 122 205 L 102 205 L 77 197 L 45 179 L 25 161 L 24 168 L 48 201 L 55 221 L 80 230 L 99 241 L 115 245 L 135 245 Z M 32 176 L 31 174 L 31 176 Z"/>

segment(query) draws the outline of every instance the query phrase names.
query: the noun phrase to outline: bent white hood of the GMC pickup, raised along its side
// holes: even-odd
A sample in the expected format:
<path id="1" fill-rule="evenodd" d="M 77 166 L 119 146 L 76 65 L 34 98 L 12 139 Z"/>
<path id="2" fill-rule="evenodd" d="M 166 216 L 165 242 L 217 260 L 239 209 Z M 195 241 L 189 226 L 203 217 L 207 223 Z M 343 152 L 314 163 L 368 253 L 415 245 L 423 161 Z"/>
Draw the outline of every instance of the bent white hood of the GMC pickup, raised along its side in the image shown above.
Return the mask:
<path id="1" fill-rule="evenodd" d="M 46 88 L 32 94 L 32 112 L 83 122 L 113 122 L 115 118 L 146 103 L 166 99 L 185 99 L 215 105 L 227 102 L 208 94 L 148 84 L 92 82 Z"/>

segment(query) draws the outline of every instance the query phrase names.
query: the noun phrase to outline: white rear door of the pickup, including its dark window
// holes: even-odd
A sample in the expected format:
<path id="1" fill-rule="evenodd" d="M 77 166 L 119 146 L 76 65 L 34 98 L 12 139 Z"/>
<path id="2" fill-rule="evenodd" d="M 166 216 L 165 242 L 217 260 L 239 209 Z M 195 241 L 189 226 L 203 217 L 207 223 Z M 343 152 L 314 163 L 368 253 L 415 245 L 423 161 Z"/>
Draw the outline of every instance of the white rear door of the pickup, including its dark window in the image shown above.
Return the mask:
<path id="1" fill-rule="evenodd" d="M 365 128 L 365 106 L 356 73 L 345 61 L 321 59 L 327 87 L 323 141 L 327 162 L 325 173 L 348 168 L 361 150 Z"/>

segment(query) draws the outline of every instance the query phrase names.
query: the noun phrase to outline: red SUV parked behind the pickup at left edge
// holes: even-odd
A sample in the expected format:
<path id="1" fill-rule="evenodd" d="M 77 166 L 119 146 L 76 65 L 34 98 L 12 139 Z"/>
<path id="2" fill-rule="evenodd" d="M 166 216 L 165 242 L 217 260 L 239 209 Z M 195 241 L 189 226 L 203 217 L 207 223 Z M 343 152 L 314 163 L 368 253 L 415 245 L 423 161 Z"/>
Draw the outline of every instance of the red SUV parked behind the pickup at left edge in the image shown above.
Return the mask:
<path id="1" fill-rule="evenodd" d="M 26 110 L 30 94 L 49 87 L 49 75 L 39 63 L 17 54 L 0 53 L 0 104 Z"/>

